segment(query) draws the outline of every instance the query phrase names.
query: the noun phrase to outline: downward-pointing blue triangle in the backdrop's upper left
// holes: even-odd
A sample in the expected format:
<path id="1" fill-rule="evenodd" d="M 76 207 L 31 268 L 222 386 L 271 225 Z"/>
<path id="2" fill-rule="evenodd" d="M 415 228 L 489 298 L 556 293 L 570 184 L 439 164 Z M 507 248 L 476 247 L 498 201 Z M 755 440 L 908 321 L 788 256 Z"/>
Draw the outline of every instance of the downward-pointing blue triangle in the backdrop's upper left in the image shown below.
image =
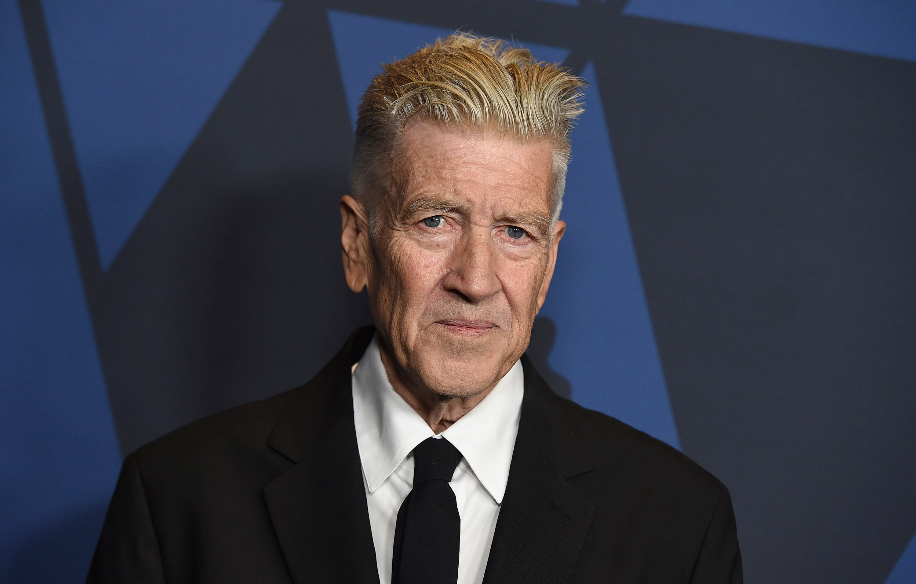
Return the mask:
<path id="1" fill-rule="evenodd" d="M 245 63 L 273 0 L 44 0 L 107 268 Z"/>

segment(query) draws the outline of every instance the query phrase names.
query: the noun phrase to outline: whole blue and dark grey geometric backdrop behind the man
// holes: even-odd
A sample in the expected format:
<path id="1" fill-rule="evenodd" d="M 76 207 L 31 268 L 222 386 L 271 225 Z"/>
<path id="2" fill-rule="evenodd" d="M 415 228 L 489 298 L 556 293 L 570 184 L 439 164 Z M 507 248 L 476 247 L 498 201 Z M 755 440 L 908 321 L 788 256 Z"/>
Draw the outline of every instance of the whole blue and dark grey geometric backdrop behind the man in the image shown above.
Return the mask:
<path id="1" fill-rule="evenodd" d="M 748 581 L 916 582 L 916 5 L 867 0 L 0 0 L 0 581 L 84 578 L 124 454 L 368 322 L 356 105 L 454 28 L 589 82 L 554 389 L 723 479 Z"/>

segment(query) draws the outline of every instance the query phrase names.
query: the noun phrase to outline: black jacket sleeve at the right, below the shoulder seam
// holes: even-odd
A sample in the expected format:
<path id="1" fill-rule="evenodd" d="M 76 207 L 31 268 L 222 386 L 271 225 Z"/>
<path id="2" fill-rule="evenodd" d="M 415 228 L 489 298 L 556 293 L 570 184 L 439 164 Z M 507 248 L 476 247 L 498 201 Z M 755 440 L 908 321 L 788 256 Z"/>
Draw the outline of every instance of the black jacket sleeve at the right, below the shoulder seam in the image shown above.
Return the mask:
<path id="1" fill-rule="evenodd" d="M 741 550 L 735 512 L 728 489 L 722 485 L 713 518 L 706 527 L 700 555 L 696 558 L 691 584 L 743 584 Z"/>

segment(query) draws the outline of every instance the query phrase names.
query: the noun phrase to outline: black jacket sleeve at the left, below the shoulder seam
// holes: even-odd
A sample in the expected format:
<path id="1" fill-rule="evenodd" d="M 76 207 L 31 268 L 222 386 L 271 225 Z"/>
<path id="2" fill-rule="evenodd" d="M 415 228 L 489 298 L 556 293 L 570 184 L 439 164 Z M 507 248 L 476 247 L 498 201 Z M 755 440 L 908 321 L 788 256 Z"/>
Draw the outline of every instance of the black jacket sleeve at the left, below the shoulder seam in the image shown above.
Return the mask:
<path id="1" fill-rule="evenodd" d="M 164 584 L 165 574 L 136 457 L 124 461 L 87 584 Z"/>

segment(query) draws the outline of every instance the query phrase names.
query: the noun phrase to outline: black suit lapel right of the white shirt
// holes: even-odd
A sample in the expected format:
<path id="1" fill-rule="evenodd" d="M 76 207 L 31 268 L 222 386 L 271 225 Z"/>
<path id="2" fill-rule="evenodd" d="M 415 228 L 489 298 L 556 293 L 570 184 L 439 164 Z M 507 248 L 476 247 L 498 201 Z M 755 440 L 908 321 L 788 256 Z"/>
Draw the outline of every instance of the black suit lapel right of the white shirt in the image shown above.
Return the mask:
<path id="1" fill-rule="evenodd" d="M 527 357 L 522 365 L 525 398 L 485 584 L 568 582 L 594 513 L 567 481 L 589 470 L 581 450 L 563 444 L 569 433 L 551 417 L 550 390 Z"/>

